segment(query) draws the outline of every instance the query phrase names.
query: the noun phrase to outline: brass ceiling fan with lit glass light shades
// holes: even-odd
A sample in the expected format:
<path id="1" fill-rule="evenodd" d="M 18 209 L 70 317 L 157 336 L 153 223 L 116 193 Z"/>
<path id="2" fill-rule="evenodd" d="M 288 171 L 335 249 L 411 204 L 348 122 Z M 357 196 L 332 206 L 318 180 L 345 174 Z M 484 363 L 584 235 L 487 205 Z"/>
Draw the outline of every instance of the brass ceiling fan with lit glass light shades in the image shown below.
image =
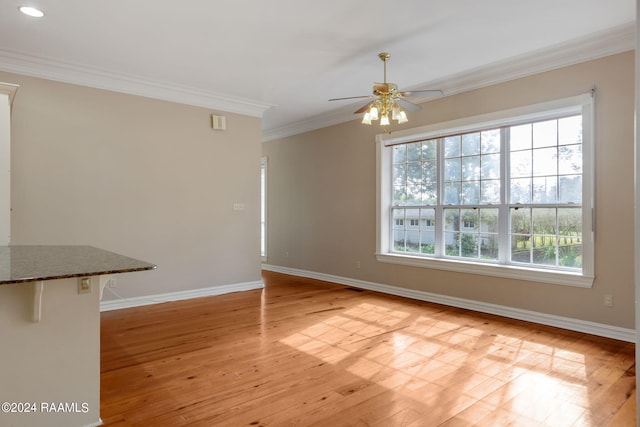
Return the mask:
<path id="1" fill-rule="evenodd" d="M 437 97 L 442 96 L 441 90 L 410 90 L 398 92 L 398 85 L 387 82 L 387 61 L 391 54 L 382 52 L 378 54 L 380 60 L 384 63 L 384 83 L 373 84 L 373 95 L 349 96 L 346 98 L 332 98 L 329 101 L 341 101 L 345 99 L 374 98 L 367 104 L 363 105 L 355 111 L 355 114 L 365 113 L 362 117 L 362 123 L 370 125 L 372 120 L 380 119 L 381 126 L 389 125 L 389 118 L 396 120 L 398 123 L 406 123 L 407 111 L 418 111 L 422 107 L 407 101 L 405 98 L 416 94 L 423 96 Z M 391 115 L 391 117 L 389 117 Z"/>

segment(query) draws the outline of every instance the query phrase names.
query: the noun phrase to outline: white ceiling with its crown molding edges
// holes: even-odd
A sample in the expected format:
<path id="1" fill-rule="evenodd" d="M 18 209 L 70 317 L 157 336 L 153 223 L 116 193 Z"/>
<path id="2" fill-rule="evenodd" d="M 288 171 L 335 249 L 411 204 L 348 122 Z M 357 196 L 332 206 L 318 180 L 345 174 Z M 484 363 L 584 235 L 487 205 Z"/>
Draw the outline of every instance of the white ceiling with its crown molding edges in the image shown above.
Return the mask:
<path id="1" fill-rule="evenodd" d="M 635 0 L 3 0 L 0 70 L 261 116 L 271 139 L 352 119 L 327 100 L 368 95 L 379 52 L 400 89 L 446 95 L 632 49 L 634 31 Z"/>

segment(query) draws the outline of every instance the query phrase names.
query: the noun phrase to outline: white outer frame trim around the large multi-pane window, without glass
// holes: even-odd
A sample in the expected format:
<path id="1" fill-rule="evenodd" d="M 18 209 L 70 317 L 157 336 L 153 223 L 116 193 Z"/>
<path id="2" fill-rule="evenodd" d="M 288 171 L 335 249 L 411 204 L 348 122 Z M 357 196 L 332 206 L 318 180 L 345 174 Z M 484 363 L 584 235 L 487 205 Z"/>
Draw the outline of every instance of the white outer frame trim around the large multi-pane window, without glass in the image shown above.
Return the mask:
<path id="1" fill-rule="evenodd" d="M 379 262 L 425 267 L 462 273 L 481 274 L 510 279 L 569 285 L 590 288 L 595 278 L 594 271 L 594 94 L 529 105 L 489 114 L 462 118 L 418 128 L 402 130 L 393 134 L 376 136 L 377 144 L 377 200 L 376 200 L 376 259 Z M 541 267 L 511 264 L 485 263 L 478 260 L 460 260 L 438 256 L 421 256 L 392 252 L 390 206 L 391 206 L 391 146 L 447 135 L 474 132 L 501 126 L 512 126 L 533 121 L 557 118 L 563 114 L 582 114 L 582 271 L 556 270 Z M 504 161 L 502 162 L 504 165 Z M 504 169 L 503 169 L 503 173 Z M 504 178 L 503 178 L 504 179 Z M 507 223 L 502 221 L 503 224 Z M 506 227 L 500 230 L 500 238 L 508 239 Z"/>

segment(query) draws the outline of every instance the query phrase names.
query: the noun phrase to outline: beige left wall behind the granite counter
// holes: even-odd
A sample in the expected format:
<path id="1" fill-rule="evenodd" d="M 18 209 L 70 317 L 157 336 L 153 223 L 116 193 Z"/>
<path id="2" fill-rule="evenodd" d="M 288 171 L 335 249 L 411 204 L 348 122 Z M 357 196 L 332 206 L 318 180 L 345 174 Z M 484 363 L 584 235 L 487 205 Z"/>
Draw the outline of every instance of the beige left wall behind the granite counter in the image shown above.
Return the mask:
<path id="1" fill-rule="evenodd" d="M 12 244 L 87 244 L 153 262 L 123 297 L 260 278 L 260 119 L 8 73 Z M 245 211 L 233 211 L 234 202 Z M 112 296 L 105 291 L 105 299 Z"/>

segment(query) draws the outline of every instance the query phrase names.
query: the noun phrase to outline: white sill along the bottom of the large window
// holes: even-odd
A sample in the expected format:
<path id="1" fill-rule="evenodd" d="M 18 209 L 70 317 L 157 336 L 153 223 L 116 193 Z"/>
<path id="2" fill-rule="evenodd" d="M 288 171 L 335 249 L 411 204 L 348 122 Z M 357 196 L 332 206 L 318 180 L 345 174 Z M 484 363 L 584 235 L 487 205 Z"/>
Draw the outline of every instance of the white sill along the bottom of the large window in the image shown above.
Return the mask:
<path id="1" fill-rule="evenodd" d="M 577 286 L 580 288 L 591 288 L 594 279 L 593 276 L 586 276 L 570 271 L 543 271 L 512 265 L 485 264 L 480 262 L 424 258 L 390 253 L 378 253 L 376 254 L 376 259 L 379 262 L 408 265 L 411 267 L 434 268 L 458 273 L 481 274 L 483 276 L 504 277 L 554 285 Z"/>

